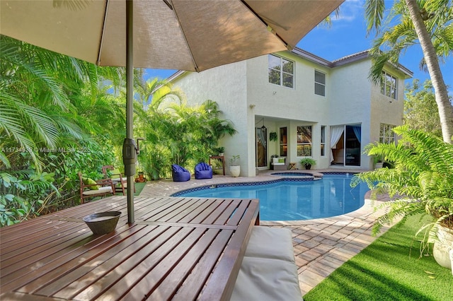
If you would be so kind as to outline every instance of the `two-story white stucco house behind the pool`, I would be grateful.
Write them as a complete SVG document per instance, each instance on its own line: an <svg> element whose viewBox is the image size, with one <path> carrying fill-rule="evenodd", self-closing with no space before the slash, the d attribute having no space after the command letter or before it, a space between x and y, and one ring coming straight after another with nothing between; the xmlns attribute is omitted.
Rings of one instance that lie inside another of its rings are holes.
<svg viewBox="0 0 453 301"><path fill-rule="evenodd" d="M390 129L403 123L404 80L412 76L388 64L385 83L374 85L371 64L367 51L327 61L295 48L169 80L189 104L214 100L234 123L238 134L221 144L227 159L241 156L243 177L269 169L272 155L297 168L311 157L315 169L368 170L373 162L364 146L394 139Z"/></svg>

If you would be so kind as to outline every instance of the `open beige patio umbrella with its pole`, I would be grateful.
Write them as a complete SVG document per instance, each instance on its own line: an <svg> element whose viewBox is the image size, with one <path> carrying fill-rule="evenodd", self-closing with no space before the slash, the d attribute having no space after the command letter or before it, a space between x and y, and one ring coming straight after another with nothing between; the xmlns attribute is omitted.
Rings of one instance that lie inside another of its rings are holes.
<svg viewBox="0 0 453 301"><path fill-rule="evenodd" d="M343 1L1 0L0 34L98 66L126 66L131 141L133 67L203 71L292 49ZM132 189L127 199L133 223Z"/></svg>

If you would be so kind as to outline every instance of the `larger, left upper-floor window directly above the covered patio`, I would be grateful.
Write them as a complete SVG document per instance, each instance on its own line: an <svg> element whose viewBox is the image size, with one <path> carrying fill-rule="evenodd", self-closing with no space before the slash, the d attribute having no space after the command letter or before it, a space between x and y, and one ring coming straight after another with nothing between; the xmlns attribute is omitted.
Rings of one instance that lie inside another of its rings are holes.
<svg viewBox="0 0 453 301"><path fill-rule="evenodd" d="M294 87L294 62L282 57L269 54L269 83L282 85L284 87Z"/></svg>

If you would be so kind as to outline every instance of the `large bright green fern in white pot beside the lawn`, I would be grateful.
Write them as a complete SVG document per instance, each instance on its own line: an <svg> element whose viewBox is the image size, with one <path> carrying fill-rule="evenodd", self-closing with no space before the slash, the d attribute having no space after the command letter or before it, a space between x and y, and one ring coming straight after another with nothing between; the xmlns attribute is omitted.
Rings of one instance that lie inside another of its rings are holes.
<svg viewBox="0 0 453 301"><path fill-rule="evenodd" d="M395 199L380 206L389 208L377 219L374 233L397 216L406 220L415 214L428 214L430 222L416 235L428 231L429 235L423 235L423 246L434 242L435 260L451 268L448 249L453 245L453 145L406 126L398 126L394 132L402 137L398 145L374 143L366 148L368 155L381 156L394 168L359 173L351 186L367 182L373 189L372 196L389 193Z"/></svg>

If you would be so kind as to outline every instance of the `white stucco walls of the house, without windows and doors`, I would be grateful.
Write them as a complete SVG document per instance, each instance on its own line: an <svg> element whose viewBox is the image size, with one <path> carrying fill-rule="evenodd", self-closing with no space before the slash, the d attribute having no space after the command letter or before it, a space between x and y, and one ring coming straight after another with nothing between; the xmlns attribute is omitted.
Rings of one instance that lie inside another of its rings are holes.
<svg viewBox="0 0 453 301"><path fill-rule="evenodd" d="M278 134L280 127L287 127L287 163L298 163L302 157L297 157L297 126L311 125L315 168L327 168L331 164L330 126L360 124L362 153L364 146L379 139L379 124L402 123L403 73L391 72L400 77L398 100L391 100L370 83L369 59L330 68L290 52L277 55L294 61L294 88L269 83L267 55L201 73L185 73L173 81L185 92L189 104L214 100L224 112L224 118L234 123L239 133L223 138L221 144L225 147L227 166L232 155L241 155L241 176L256 174L255 128L263 125L262 119L268 129L268 166L270 156L280 153L278 139L269 141L271 131ZM326 73L325 97L314 94L315 70ZM323 156L321 126L326 126ZM367 155L360 155L360 163L360 169L372 168Z"/></svg>

